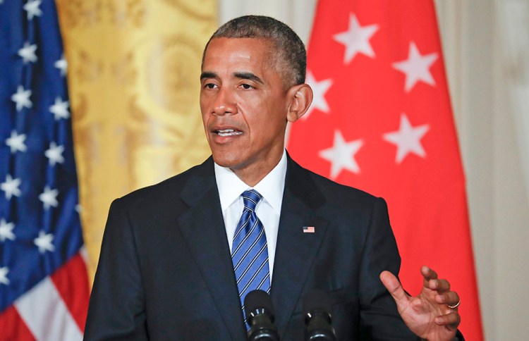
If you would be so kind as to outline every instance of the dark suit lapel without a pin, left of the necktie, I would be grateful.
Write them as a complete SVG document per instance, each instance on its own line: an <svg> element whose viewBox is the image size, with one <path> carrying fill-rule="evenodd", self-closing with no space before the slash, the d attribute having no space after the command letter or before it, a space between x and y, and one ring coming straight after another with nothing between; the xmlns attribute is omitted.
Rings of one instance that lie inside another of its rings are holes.
<svg viewBox="0 0 529 341"><path fill-rule="evenodd" d="M243 315L211 158L191 173L181 197L190 206L178 218L182 235L232 339L243 340Z"/></svg>

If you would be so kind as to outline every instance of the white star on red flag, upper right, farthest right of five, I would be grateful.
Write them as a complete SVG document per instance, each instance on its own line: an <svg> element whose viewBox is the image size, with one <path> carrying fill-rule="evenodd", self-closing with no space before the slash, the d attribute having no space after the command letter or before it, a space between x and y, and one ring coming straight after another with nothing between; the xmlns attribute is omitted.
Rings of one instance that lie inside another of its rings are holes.
<svg viewBox="0 0 529 341"><path fill-rule="evenodd" d="M430 73L430 66L437 61L438 54L425 54L422 56L414 42L410 43L408 59L393 63L393 67L406 75L406 85L404 89L410 92L411 89L422 80L429 85L435 85L434 77Z"/></svg>

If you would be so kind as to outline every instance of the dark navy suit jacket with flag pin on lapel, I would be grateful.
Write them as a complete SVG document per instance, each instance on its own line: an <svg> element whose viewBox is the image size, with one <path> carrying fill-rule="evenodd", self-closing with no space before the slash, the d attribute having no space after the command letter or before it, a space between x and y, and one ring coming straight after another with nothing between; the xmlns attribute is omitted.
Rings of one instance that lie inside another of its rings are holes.
<svg viewBox="0 0 529 341"><path fill-rule="evenodd" d="M339 340L415 340L379 280L399 266L384 200L288 158L271 291L281 340L303 340L312 288L332 297ZM245 331L212 158L112 203L86 340L245 340Z"/></svg>

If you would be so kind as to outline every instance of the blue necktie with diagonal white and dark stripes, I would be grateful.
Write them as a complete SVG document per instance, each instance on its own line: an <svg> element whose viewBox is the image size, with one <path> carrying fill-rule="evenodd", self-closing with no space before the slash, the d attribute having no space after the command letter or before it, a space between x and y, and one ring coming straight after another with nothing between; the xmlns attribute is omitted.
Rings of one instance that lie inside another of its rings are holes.
<svg viewBox="0 0 529 341"><path fill-rule="evenodd" d="M244 298L248 292L257 289L270 292L270 272L265 228L255 214L255 206L262 196L256 190L245 191L241 196L244 210L233 236L231 260L244 315Z"/></svg>

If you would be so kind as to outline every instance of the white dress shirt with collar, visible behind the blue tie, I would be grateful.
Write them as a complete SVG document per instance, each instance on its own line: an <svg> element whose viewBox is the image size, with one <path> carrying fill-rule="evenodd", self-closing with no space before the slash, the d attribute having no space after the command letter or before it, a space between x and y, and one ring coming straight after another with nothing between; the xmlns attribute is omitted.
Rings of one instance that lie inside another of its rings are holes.
<svg viewBox="0 0 529 341"><path fill-rule="evenodd" d="M255 207L255 213L265 228L265 235L267 236L270 283L272 283L272 271L274 269L277 230L279 230L279 215L281 214L281 204L283 203L285 176L286 151L283 151L283 156L277 166L254 187L246 185L231 169L221 167L215 163L215 178L219 188L222 216L230 252L233 244L233 235L244 209L241 194L245 190L253 188L262 195L261 201Z"/></svg>

